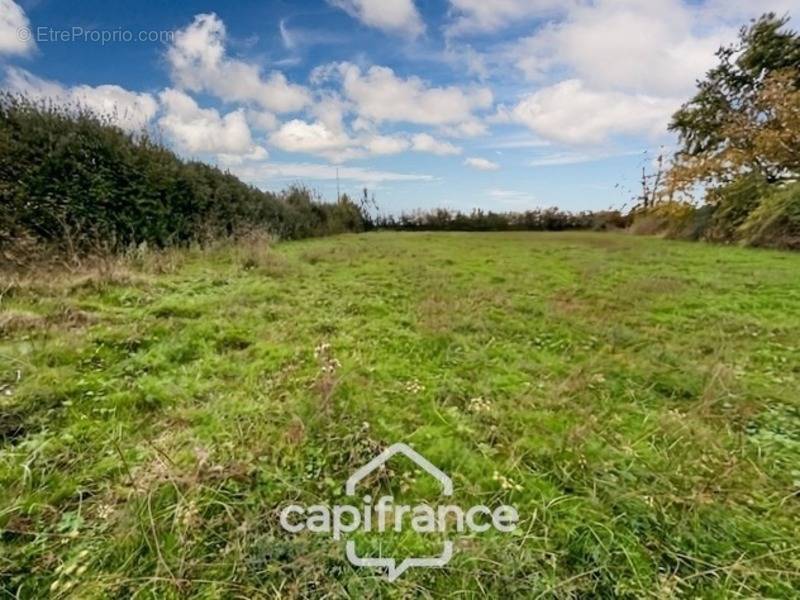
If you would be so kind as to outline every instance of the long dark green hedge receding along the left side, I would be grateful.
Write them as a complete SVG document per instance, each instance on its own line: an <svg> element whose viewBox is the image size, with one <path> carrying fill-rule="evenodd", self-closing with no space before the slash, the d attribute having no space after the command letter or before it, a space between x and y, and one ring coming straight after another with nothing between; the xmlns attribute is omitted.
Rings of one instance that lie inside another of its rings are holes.
<svg viewBox="0 0 800 600"><path fill-rule="evenodd" d="M258 190L184 161L80 106L0 95L0 253L10 261L204 243L254 230L283 239L362 231L347 199Z"/></svg>

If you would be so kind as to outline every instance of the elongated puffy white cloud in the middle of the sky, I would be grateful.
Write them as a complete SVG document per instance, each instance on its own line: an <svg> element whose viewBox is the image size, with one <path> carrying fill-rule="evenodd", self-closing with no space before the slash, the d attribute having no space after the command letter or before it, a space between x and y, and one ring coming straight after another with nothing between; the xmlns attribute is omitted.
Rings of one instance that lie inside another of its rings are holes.
<svg viewBox="0 0 800 600"><path fill-rule="evenodd" d="M398 77L388 67L373 66L366 73L351 63L323 67L317 77L338 73L344 95L359 116L381 123L459 125L476 120L475 111L492 106L492 92L481 87L462 90L455 86L431 87L418 77Z"/></svg>

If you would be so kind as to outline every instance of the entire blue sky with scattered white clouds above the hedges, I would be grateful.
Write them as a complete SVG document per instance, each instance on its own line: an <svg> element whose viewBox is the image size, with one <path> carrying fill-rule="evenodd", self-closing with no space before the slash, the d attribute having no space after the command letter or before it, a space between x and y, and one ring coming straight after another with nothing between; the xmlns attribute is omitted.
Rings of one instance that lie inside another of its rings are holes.
<svg viewBox="0 0 800 600"><path fill-rule="evenodd" d="M624 205L714 50L800 0L0 0L2 87L264 189ZM103 37L107 40L103 41ZM110 39L109 39L110 38ZM140 39L141 38L141 39Z"/></svg>

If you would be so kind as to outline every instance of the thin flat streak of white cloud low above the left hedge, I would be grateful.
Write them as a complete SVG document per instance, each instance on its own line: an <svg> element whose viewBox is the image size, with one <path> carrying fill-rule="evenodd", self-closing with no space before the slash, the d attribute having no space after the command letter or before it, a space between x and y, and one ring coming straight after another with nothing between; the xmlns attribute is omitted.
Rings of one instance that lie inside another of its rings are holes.
<svg viewBox="0 0 800 600"><path fill-rule="evenodd" d="M253 163L235 166L231 171L253 185L265 185L276 179L321 179L333 181L337 178L381 183L384 181L433 181L433 176L418 173L397 173L361 167L335 167L316 163Z"/></svg>

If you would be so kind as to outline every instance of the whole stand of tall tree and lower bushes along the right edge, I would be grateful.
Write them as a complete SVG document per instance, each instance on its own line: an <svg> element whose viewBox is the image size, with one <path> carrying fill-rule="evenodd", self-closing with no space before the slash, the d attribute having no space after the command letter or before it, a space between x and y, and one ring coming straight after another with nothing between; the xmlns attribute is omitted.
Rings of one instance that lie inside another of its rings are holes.
<svg viewBox="0 0 800 600"><path fill-rule="evenodd" d="M800 35L788 23L766 14L719 50L673 116L680 148L664 177L643 180L634 231L800 249Z"/></svg>

